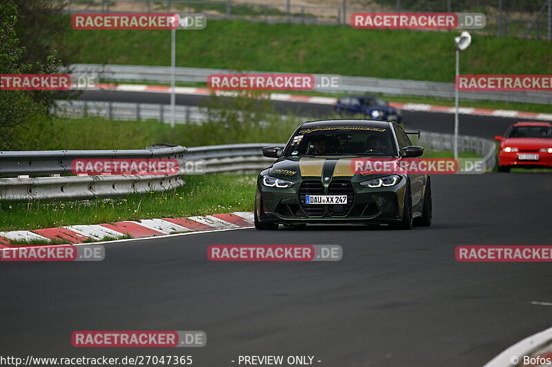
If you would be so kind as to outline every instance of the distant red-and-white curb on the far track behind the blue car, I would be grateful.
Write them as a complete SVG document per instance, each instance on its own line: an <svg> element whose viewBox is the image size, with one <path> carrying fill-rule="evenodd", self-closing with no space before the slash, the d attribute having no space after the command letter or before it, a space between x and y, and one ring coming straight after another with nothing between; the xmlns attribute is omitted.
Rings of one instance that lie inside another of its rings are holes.
<svg viewBox="0 0 552 367"><path fill-rule="evenodd" d="M170 93L170 87L167 87L165 85L99 84L97 85L97 89L114 90L117 92ZM212 92L215 92L215 91L209 90L208 88L175 87L175 94L208 96ZM215 94L217 96L235 96L235 92L228 92L228 91L216 91ZM262 94L262 96L264 96L264 98L270 99L270 101L312 103L315 105L335 105L335 103L337 103L337 98L333 98L333 97L299 96L299 95L285 94L285 93ZM389 104L395 108L404 109L405 111L438 112L441 114L453 114L455 112L454 107L427 105L424 103L390 102ZM533 120L552 121L552 114L540 114L538 112L521 112L521 111L515 111L511 109L486 109L486 108L461 107L458 109L458 112L464 115L530 118Z"/></svg>

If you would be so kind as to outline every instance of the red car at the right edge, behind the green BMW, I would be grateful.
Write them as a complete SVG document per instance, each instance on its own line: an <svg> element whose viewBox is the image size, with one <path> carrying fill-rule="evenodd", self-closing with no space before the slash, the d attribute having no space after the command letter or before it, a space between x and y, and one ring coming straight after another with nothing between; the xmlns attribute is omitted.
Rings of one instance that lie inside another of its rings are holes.
<svg viewBox="0 0 552 367"><path fill-rule="evenodd" d="M550 123L515 123L504 137L497 135L498 171L511 167L552 168L552 125Z"/></svg>

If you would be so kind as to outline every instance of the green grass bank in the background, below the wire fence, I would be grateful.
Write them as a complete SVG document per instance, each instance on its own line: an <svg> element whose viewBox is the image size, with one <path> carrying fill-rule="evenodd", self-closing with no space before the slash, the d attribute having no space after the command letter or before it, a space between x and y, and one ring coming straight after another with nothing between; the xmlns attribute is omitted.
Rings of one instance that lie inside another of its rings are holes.
<svg viewBox="0 0 552 367"><path fill-rule="evenodd" d="M210 20L205 30L177 33L177 66L451 82L454 35ZM72 30L66 42L81 46L74 63L170 63L169 31ZM461 63L462 74L552 74L551 45L475 35Z"/></svg>

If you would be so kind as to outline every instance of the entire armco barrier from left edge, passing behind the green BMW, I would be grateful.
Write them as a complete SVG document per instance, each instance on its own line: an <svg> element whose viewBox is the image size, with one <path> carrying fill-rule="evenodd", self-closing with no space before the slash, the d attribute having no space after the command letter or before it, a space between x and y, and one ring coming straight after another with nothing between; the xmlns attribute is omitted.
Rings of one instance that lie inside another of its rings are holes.
<svg viewBox="0 0 552 367"><path fill-rule="evenodd" d="M453 147L451 134L422 132L417 141L428 150L443 151ZM172 147L145 150L112 151L0 151L0 198L90 199L122 196L127 193L166 191L184 185L184 174L257 174L270 166L274 158L262 156L262 147L284 147L282 143L212 145L207 147ZM474 136L459 136L458 151L474 151L484 156L486 169L495 166L495 143ZM174 158L179 161L175 175L101 175L59 176L70 174L74 158ZM201 163L200 172L186 171ZM55 175L55 177L30 177Z"/></svg>

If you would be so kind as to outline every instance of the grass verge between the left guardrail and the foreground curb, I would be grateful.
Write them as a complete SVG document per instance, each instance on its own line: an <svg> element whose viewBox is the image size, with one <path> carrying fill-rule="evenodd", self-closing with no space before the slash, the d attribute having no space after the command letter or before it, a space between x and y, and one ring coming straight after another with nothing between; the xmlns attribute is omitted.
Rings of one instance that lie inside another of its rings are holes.
<svg viewBox="0 0 552 367"><path fill-rule="evenodd" d="M164 193L79 201L4 200L0 201L0 231L251 211L255 179L251 175L187 176L186 186Z"/></svg>

